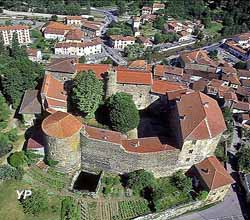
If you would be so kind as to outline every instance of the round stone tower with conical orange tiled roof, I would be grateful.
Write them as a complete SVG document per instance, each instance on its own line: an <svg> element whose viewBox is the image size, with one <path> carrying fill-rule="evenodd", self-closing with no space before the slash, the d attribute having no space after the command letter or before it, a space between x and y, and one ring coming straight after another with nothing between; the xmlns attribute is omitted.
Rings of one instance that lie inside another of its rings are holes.
<svg viewBox="0 0 250 220"><path fill-rule="evenodd" d="M82 123L67 112L55 112L42 122L45 152L58 162L57 170L65 173L80 168L80 130Z"/></svg>

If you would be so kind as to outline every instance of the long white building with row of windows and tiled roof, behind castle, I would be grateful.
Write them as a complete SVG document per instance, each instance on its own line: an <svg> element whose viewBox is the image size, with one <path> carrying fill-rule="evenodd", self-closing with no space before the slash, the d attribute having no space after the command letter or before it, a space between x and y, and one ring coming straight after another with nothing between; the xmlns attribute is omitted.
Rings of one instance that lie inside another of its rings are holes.
<svg viewBox="0 0 250 220"><path fill-rule="evenodd" d="M102 53L102 41L93 39L85 42L59 42L55 45L56 55L90 56Z"/></svg>

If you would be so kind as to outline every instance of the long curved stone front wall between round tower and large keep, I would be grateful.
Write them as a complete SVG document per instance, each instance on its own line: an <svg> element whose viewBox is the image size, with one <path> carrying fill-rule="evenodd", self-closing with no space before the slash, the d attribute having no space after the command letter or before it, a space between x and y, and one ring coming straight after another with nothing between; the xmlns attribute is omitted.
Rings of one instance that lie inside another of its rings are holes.
<svg viewBox="0 0 250 220"><path fill-rule="evenodd" d="M179 150L157 153L126 152L119 144L87 138L81 133L81 166L84 170L126 173L145 169L156 177L168 176L177 169Z"/></svg>

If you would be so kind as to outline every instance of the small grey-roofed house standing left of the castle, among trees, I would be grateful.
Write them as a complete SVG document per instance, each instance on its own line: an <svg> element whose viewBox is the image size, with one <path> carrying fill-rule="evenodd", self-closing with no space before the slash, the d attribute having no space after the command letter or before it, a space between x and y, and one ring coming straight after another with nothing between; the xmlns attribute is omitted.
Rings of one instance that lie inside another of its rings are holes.
<svg viewBox="0 0 250 220"><path fill-rule="evenodd" d="M24 124L32 126L36 119L39 119L42 113L42 107L39 100L38 90L26 90L19 109L19 114L22 115Z"/></svg>

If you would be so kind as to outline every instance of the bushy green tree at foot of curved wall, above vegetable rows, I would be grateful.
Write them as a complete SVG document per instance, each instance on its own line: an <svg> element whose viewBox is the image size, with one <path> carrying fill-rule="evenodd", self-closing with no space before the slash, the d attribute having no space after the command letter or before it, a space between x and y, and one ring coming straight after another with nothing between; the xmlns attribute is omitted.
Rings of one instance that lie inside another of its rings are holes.
<svg viewBox="0 0 250 220"><path fill-rule="evenodd" d="M135 194L139 194L146 187L153 187L156 183L154 175L145 170L136 170L128 174L127 187Z"/></svg>

